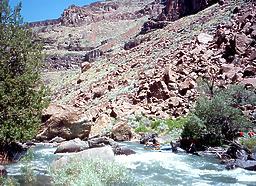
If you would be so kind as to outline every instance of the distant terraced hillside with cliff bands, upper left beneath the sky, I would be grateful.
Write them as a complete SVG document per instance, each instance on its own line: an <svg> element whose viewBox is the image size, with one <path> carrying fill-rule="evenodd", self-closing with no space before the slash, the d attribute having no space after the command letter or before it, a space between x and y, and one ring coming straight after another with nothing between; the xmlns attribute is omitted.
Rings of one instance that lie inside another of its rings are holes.
<svg viewBox="0 0 256 186"><path fill-rule="evenodd" d="M46 69L71 69L123 46L149 17L162 12L160 0L113 0L70 6L57 20L30 23L47 54Z"/></svg>

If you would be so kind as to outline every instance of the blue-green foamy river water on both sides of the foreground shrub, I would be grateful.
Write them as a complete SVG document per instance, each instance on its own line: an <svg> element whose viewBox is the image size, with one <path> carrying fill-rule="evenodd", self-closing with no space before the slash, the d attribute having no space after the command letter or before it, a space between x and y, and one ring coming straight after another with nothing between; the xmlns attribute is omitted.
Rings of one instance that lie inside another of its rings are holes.
<svg viewBox="0 0 256 186"><path fill-rule="evenodd" d="M116 156L116 161L129 169L135 179L143 185L256 185L256 172L243 169L226 170L212 157L198 157L188 154L174 154L170 151L148 151L142 145L123 143L136 151L130 156ZM34 159L30 166L38 175L36 185L51 185L47 170L51 162L58 158L54 147L34 148ZM21 178L23 162L7 167L9 175ZM21 183L21 185L26 185Z"/></svg>

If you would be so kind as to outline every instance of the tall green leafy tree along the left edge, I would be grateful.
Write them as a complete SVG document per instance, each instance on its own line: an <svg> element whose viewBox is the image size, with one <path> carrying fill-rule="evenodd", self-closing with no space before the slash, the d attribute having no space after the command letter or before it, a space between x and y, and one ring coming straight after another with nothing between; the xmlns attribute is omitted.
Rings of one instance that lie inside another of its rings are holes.
<svg viewBox="0 0 256 186"><path fill-rule="evenodd" d="M40 82L42 47L22 23L21 4L11 9L0 1L0 142L34 137L46 106Z"/></svg>

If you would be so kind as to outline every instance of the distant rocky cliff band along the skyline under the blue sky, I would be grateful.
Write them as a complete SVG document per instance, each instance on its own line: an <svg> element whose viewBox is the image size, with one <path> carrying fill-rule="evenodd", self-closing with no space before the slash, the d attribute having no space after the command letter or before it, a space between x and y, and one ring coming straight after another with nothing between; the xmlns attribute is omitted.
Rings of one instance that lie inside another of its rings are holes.
<svg viewBox="0 0 256 186"><path fill-rule="evenodd" d="M60 24L63 26L77 27L95 22L134 20L144 16L158 16L163 9L161 0L115 0L96 2L88 6L71 5L65 9L59 19L34 22L30 25L48 26Z"/></svg>

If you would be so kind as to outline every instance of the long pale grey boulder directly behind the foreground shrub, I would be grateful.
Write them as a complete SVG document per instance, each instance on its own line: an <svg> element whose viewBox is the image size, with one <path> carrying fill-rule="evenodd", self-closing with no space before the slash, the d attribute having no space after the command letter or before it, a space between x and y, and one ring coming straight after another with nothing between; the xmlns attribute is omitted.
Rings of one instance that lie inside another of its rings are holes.
<svg viewBox="0 0 256 186"><path fill-rule="evenodd" d="M102 159L104 161L114 161L114 152L110 146L84 150L69 156L63 156L52 164L53 169L61 169L72 161L84 161L88 159Z"/></svg>

